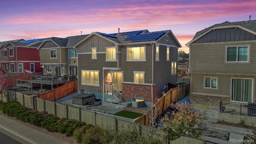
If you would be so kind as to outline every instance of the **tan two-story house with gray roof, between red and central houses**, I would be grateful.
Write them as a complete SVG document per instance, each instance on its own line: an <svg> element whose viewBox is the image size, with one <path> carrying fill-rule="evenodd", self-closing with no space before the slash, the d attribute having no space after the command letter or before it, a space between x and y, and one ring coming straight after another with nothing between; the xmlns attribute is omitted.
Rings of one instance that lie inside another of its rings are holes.
<svg viewBox="0 0 256 144"><path fill-rule="evenodd" d="M77 76L77 50L73 46L86 36L88 35L46 38L38 47L44 74Z"/></svg>

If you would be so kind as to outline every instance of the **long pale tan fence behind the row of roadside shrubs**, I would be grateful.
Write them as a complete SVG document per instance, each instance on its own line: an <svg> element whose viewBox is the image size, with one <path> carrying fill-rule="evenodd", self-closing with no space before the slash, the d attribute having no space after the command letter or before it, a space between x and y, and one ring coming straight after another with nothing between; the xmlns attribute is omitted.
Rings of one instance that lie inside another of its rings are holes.
<svg viewBox="0 0 256 144"><path fill-rule="evenodd" d="M114 128L115 130L127 130L135 128L141 134L157 134L163 139L166 138L166 132L161 129L152 128L150 126L141 125L135 122L128 122L121 120L113 116L106 116L100 113L91 112L88 110L82 110L81 108L68 106L64 104L58 104L56 102L51 102L48 100L43 100L40 98L34 98L35 105L34 108L38 111L47 111L48 114L54 114L59 118L69 118L75 119L80 122L86 122L86 124L100 125L105 128ZM168 141L166 139L166 141ZM205 144L204 140L196 140L194 138L186 138L181 136L180 138L168 141L168 144Z"/></svg>

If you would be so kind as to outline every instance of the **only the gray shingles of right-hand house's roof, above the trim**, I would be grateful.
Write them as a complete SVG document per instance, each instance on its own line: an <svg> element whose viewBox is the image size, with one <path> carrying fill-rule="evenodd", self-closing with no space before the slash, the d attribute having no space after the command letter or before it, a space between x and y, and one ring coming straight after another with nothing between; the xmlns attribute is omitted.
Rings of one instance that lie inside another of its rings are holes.
<svg viewBox="0 0 256 144"><path fill-rule="evenodd" d="M248 30L252 30L253 32L256 32L256 20L250 20L250 22L248 22L248 21L228 22L228 21L226 21L221 24L214 24L213 26L210 26L204 30L200 30L199 32L196 32L193 40L211 28L220 27L220 26L235 26L235 25L239 25L244 28L247 28Z"/></svg>

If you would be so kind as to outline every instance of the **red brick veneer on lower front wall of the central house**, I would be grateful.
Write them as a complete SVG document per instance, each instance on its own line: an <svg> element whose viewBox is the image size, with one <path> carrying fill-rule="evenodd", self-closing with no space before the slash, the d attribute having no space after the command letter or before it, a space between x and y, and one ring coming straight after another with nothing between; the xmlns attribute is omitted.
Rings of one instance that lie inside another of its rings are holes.
<svg viewBox="0 0 256 144"><path fill-rule="evenodd" d="M122 86L122 97L128 100L134 100L134 97L144 98L145 102L151 100L151 86L143 84L126 84ZM156 99L156 85L153 86L153 99Z"/></svg>

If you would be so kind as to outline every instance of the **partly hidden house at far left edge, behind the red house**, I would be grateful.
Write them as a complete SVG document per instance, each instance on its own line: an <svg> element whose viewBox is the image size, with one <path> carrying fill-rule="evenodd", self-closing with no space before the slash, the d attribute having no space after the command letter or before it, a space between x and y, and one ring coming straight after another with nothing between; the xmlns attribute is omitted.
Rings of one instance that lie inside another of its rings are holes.
<svg viewBox="0 0 256 144"><path fill-rule="evenodd" d="M20 42L23 41L24 39L19 39L19 40L10 40L11 42ZM5 42L0 42L0 68L3 68L4 70L7 70L8 66L6 63L7 62L7 50L4 49L4 46L8 43L9 41ZM6 65L5 65L6 64Z"/></svg>

